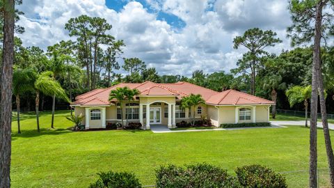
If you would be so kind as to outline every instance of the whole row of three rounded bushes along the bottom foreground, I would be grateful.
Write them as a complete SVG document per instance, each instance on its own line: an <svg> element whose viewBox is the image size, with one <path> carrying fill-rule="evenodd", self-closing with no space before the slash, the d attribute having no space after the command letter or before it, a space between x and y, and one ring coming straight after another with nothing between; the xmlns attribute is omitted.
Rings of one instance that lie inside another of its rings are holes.
<svg viewBox="0 0 334 188"><path fill-rule="evenodd" d="M235 170L237 176L228 174L228 171L211 164L185 165L185 168L170 164L160 166L156 170L156 186L200 188L200 187L225 187L225 188L285 188L285 177L273 170L260 165L242 166ZM100 178L90 185L91 188L136 188L141 183L133 173L121 172L99 173Z"/></svg>

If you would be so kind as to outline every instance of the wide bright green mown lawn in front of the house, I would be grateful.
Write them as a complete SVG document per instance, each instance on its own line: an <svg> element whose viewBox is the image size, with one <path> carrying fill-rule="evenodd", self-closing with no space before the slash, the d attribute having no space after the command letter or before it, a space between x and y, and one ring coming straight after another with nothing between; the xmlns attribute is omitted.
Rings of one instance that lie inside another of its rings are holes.
<svg viewBox="0 0 334 188"><path fill-rule="evenodd" d="M231 174L237 166L264 164L278 172L295 171L284 173L289 187L308 185L309 130L305 127L168 134L71 132L68 115L57 111L56 129L50 130L51 116L42 113L41 133L36 132L33 113L22 115L22 134L16 134L13 122L13 187L88 187L96 173L109 170L132 171L143 185L152 185L159 165L196 162L221 166ZM318 133L318 165L326 169L324 136ZM326 187L328 173L320 172L321 187Z"/></svg>

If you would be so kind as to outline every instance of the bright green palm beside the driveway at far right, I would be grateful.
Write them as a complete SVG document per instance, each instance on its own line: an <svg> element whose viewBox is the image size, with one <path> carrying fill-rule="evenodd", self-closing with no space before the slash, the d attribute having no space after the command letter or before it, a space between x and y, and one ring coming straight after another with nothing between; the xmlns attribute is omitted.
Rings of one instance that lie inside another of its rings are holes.
<svg viewBox="0 0 334 188"><path fill-rule="evenodd" d="M290 107L293 107L294 104L304 102L305 127L308 127L308 100L311 97L311 93L311 86L293 86L285 92L285 95L287 95L287 99L289 100Z"/></svg>

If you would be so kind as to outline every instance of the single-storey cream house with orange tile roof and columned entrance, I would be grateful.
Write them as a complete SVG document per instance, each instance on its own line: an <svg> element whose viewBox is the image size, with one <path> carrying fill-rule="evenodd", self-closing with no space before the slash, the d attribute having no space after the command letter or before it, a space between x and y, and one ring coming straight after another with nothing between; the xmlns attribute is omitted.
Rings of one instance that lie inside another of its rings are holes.
<svg viewBox="0 0 334 188"><path fill-rule="evenodd" d="M125 86L138 89L140 95L134 101L122 104L124 107L121 111L119 102L109 102L109 93ZM207 116L216 127L222 123L269 122L269 107L274 104L270 100L232 89L217 92L185 81L175 84L145 81L95 89L77 96L71 107L74 107L75 114L84 114L82 124L86 129L105 128L106 123L120 122L121 113L123 117L127 113L130 122L140 122L144 129L157 124L172 128L177 122L191 120L193 109L189 111L180 107L182 97L191 93L200 94L205 100L205 104L196 107L196 118Z"/></svg>

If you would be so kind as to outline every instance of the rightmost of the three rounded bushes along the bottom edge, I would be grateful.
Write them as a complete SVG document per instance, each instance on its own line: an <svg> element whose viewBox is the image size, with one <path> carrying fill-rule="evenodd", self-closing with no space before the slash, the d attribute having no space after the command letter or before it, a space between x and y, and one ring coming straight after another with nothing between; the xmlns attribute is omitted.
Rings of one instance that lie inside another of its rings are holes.
<svg viewBox="0 0 334 188"><path fill-rule="evenodd" d="M271 169L264 166L242 166L237 168L235 173L237 173L237 178L243 187L287 187L287 183L285 182L285 177L283 175L275 173Z"/></svg>

